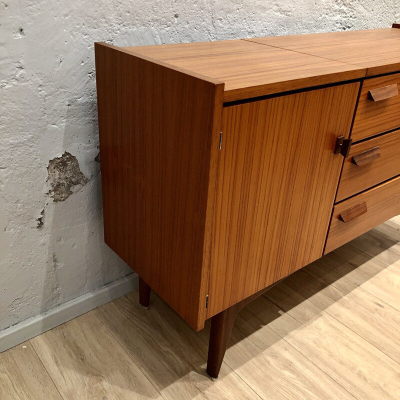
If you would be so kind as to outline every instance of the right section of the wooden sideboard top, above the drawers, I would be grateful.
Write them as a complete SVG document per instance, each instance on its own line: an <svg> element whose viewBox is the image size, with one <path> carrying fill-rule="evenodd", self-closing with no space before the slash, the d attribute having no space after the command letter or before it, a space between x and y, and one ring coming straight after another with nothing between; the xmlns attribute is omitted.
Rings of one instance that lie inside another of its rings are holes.
<svg viewBox="0 0 400 400"><path fill-rule="evenodd" d="M366 76L400 70L400 29L365 29L247 39L279 48L359 65Z"/></svg>

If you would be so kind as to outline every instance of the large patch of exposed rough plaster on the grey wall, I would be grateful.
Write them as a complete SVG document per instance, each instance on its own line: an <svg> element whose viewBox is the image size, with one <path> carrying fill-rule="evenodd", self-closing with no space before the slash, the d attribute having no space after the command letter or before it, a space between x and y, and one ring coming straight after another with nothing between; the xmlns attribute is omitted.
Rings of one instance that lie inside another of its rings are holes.
<svg viewBox="0 0 400 400"><path fill-rule="evenodd" d="M72 194L72 188L77 191L88 182L79 169L76 157L67 151L48 161L47 172L47 181L51 185L48 194L53 201L66 200Z"/></svg>

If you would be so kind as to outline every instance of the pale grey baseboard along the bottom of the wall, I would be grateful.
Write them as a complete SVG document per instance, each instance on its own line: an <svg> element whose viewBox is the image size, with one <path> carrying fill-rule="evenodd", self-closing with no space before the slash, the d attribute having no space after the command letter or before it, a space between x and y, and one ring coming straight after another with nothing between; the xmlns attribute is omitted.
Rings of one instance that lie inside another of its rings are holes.
<svg viewBox="0 0 400 400"><path fill-rule="evenodd" d="M137 275L131 273L121 279L58 305L43 314L18 322L0 331L0 352L69 321L75 316L82 315L93 308L127 294L135 290L137 286Z"/></svg>

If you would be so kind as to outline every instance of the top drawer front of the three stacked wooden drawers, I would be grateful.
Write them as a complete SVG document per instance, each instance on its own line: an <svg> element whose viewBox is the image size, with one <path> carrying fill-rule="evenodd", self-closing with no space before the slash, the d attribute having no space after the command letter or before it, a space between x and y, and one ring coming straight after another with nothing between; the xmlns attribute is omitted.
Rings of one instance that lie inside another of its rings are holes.
<svg viewBox="0 0 400 400"><path fill-rule="evenodd" d="M351 130L353 141L400 127L400 73L365 79Z"/></svg>

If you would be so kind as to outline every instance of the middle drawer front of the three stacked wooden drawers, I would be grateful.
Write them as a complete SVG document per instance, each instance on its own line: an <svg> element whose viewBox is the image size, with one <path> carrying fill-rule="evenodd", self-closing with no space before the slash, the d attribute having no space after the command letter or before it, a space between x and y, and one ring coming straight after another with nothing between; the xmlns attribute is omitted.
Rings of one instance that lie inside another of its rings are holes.
<svg viewBox="0 0 400 400"><path fill-rule="evenodd" d="M336 202L400 174L400 130L351 146L341 171Z"/></svg>

